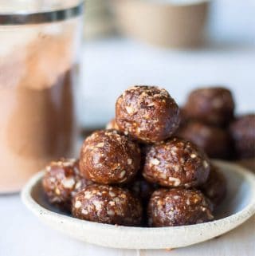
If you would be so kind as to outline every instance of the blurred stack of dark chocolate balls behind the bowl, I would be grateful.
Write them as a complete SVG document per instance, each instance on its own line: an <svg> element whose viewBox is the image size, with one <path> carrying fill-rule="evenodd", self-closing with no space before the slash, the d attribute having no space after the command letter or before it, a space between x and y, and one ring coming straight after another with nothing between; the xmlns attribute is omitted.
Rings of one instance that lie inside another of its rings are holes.
<svg viewBox="0 0 255 256"><path fill-rule="evenodd" d="M255 157L255 114L235 116L229 89L195 89L181 109L181 116L177 135L197 144L207 156L223 160Z"/></svg>

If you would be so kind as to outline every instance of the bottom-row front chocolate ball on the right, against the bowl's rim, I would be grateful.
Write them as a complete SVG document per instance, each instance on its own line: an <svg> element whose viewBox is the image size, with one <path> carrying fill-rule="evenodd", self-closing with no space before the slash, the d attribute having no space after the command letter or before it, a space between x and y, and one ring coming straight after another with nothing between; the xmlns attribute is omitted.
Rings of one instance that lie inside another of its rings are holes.
<svg viewBox="0 0 255 256"><path fill-rule="evenodd" d="M213 206L201 191L184 188L159 189L148 204L149 226L182 226L212 219Z"/></svg>

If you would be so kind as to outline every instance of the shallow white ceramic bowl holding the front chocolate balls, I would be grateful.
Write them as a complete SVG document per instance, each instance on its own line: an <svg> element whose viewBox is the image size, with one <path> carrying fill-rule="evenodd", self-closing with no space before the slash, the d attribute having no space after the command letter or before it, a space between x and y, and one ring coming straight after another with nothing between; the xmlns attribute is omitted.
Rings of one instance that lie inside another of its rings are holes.
<svg viewBox="0 0 255 256"><path fill-rule="evenodd" d="M232 163L214 161L226 175L228 195L216 220L190 226L131 227L92 223L65 215L45 200L44 171L33 176L22 191L26 207L39 219L73 238L100 246L127 249L163 249L190 246L217 237L244 223L255 213L255 175Z"/></svg>

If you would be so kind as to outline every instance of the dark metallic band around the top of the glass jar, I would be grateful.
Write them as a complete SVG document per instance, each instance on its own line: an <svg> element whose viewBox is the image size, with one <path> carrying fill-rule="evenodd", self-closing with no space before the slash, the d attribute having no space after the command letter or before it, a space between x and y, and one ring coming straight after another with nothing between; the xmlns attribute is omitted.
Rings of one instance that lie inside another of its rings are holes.
<svg viewBox="0 0 255 256"><path fill-rule="evenodd" d="M0 12L0 26L13 25L33 25L49 22L61 22L69 18L75 18L84 11L84 1L80 1L76 6L57 9L45 10L38 12L18 11L14 13L1 14Z"/></svg>

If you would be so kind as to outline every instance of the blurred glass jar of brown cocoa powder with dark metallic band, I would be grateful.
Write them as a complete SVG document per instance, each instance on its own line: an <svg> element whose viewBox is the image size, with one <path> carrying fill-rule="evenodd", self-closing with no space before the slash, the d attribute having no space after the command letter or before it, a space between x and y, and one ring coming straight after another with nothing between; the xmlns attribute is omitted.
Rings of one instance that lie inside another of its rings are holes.
<svg viewBox="0 0 255 256"><path fill-rule="evenodd" d="M0 0L0 193L73 156L82 4Z"/></svg>

